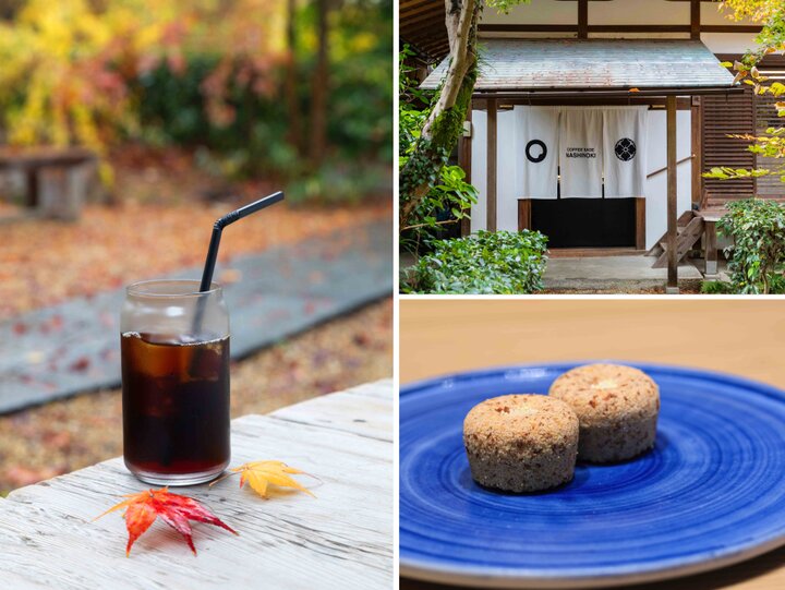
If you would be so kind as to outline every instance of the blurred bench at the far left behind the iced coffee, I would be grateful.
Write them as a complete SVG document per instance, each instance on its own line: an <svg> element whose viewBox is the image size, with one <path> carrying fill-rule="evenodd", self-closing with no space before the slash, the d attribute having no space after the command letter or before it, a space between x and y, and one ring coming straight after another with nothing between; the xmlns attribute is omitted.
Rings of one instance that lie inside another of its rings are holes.
<svg viewBox="0 0 785 590"><path fill-rule="evenodd" d="M96 155L80 147L0 147L0 172L25 176L25 205L56 219L78 218L96 165Z"/></svg>

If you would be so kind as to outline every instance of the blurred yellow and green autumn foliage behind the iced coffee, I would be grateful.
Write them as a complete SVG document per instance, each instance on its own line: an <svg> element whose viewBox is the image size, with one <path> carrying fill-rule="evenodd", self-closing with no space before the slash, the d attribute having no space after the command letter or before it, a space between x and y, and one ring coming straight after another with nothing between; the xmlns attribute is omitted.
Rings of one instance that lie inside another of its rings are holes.
<svg viewBox="0 0 785 590"><path fill-rule="evenodd" d="M361 194L391 161L391 0L0 0L0 143Z"/></svg>

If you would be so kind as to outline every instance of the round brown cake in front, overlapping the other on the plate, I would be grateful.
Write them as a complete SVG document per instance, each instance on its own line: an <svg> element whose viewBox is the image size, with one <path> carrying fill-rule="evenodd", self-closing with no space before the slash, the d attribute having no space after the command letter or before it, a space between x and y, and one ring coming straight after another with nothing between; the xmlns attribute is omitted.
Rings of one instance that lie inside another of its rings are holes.
<svg viewBox="0 0 785 590"><path fill-rule="evenodd" d="M538 492L572 479L578 417L541 395L511 395L474 406L463 421L474 481L507 492Z"/></svg>

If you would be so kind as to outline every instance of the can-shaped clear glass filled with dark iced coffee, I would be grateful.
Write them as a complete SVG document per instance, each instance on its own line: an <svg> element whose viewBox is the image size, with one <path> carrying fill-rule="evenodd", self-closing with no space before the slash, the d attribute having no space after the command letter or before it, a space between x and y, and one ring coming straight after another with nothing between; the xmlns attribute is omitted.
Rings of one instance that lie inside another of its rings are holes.
<svg viewBox="0 0 785 590"><path fill-rule="evenodd" d="M229 465L229 314L221 288L147 280L120 321L123 459L140 480L192 485Z"/></svg>

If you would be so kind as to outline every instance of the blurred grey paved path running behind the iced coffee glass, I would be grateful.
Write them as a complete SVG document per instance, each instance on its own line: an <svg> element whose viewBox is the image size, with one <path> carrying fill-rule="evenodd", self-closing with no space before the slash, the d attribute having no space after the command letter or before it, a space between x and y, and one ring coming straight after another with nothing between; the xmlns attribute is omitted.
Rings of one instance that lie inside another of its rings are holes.
<svg viewBox="0 0 785 590"><path fill-rule="evenodd" d="M389 220L357 225L238 256L231 268L219 265L232 359L388 296L391 230ZM167 276L194 278L201 272ZM0 412L118 386L124 297L114 289L0 320Z"/></svg>

